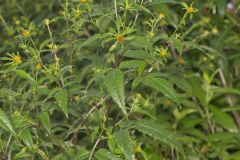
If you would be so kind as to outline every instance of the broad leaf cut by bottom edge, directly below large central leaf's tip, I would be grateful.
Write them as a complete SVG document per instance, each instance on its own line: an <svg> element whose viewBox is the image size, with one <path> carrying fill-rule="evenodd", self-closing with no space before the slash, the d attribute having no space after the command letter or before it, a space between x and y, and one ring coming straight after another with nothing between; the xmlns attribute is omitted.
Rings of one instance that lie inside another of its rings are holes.
<svg viewBox="0 0 240 160"><path fill-rule="evenodd" d="M118 131L114 133L114 138L117 146L120 148L125 158L127 160L134 160L135 159L134 143L128 131L127 130Z"/></svg>

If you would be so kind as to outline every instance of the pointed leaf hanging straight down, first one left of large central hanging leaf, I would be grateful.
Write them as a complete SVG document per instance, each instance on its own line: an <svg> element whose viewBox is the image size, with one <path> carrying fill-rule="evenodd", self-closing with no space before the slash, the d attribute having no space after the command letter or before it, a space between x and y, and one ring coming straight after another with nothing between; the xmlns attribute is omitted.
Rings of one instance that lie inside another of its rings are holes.
<svg viewBox="0 0 240 160"><path fill-rule="evenodd" d="M67 90L61 89L55 94L55 99L57 101L58 106L61 108L61 110L65 113L65 115L68 117L68 93Z"/></svg>

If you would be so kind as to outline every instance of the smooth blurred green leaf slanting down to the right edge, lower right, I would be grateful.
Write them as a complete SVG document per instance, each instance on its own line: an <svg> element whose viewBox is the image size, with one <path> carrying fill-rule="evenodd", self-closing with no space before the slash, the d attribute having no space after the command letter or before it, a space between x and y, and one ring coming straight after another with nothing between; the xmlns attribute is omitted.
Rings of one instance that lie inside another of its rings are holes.
<svg viewBox="0 0 240 160"><path fill-rule="evenodd" d="M231 116L217 107L210 106L210 109L213 113L213 119L217 124L229 132L238 132L237 126Z"/></svg>

